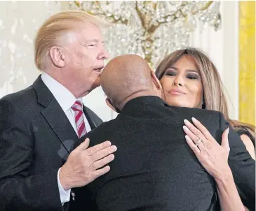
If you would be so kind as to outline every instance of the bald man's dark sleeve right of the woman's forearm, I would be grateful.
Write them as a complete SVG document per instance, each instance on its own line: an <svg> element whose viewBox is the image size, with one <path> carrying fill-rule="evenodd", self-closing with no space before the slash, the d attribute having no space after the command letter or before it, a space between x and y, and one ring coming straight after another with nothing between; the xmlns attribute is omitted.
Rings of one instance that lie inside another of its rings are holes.
<svg viewBox="0 0 256 211"><path fill-rule="evenodd" d="M220 114L220 129L223 133L229 126ZM255 160L245 148L238 134L229 126L229 166L245 207L255 210Z"/></svg>

